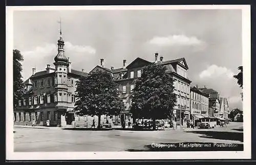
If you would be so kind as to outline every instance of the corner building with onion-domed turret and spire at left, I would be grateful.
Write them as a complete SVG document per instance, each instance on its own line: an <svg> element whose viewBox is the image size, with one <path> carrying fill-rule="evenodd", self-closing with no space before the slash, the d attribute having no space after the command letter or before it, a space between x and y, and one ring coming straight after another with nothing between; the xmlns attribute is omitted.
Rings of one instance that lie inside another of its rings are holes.
<svg viewBox="0 0 256 165"><path fill-rule="evenodd" d="M71 125L75 120L76 81L88 74L73 70L65 56L65 42L58 40L58 54L54 68L47 65L45 71L36 72L25 81L24 98L14 109L14 124L62 126Z"/></svg>

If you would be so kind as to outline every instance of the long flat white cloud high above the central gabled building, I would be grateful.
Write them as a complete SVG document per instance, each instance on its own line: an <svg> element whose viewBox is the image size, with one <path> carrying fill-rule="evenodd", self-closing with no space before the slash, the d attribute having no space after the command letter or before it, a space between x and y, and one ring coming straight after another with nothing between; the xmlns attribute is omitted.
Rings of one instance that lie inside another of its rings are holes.
<svg viewBox="0 0 256 165"><path fill-rule="evenodd" d="M157 46L201 46L204 45L205 42L199 40L195 36L187 37L185 35L172 35L167 37L154 37L148 43Z"/></svg>

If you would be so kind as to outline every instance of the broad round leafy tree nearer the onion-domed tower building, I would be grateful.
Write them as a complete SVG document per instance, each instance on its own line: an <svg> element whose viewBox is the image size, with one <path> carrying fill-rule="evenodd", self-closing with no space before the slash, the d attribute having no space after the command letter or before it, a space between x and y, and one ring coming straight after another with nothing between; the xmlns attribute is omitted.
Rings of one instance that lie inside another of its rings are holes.
<svg viewBox="0 0 256 165"><path fill-rule="evenodd" d="M124 104L119 97L116 84L110 73L97 71L77 81L75 111L79 115L98 116L98 129L101 115L119 115Z"/></svg>

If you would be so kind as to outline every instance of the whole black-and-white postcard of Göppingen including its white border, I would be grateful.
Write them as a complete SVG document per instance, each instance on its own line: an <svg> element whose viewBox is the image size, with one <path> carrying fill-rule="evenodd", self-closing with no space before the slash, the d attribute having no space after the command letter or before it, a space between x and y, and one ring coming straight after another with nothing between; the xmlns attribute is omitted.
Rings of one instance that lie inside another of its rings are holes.
<svg viewBox="0 0 256 165"><path fill-rule="evenodd" d="M7 158L250 158L250 6L6 18Z"/></svg>

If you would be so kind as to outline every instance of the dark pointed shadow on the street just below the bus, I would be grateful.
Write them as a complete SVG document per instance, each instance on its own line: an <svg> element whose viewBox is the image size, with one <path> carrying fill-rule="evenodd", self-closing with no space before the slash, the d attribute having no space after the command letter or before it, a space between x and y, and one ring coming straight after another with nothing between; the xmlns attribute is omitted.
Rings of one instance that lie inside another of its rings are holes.
<svg viewBox="0 0 256 165"><path fill-rule="evenodd" d="M189 132L203 134L199 137L204 137L209 139L220 139L220 140L244 142L243 132L224 132L224 131L189 131Z"/></svg>

